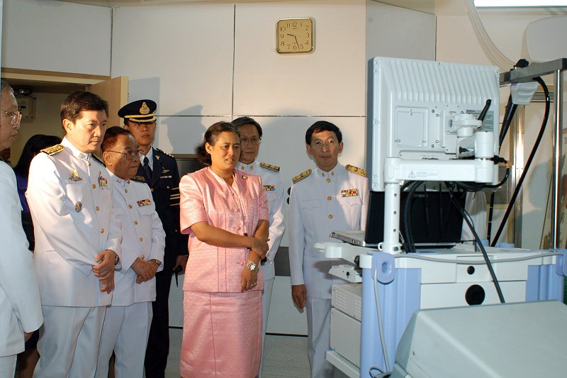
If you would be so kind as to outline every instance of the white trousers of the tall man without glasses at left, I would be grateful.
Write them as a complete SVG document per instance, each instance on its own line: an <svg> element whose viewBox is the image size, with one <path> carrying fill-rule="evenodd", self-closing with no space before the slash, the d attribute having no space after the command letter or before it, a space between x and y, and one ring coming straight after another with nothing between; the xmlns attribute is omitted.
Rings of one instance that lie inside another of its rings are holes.
<svg viewBox="0 0 567 378"><path fill-rule="evenodd" d="M34 378L94 377L106 307L41 306Z"/></svg>

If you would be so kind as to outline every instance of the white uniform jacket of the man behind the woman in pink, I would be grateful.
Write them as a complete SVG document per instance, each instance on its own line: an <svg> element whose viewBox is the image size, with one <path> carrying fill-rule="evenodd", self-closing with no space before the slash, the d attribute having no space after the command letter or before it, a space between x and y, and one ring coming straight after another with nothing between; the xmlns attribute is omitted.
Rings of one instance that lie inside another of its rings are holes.
<svg viewBox="0 0 567 378"><path fill-rule="evenodd" d="M240 169L249 173L257 174L262 178L262 185L266 189L266 197L268 198L268 209L270 212L269 227L269 251L266 255L266 262L262 264L262 272L264 272L264 280L273 279L275 276L274 259L278 252L279 244L283 231L286 230L283 216L283 182L279 167L269 165L257 160L252 164L240 164Z"/></svg>

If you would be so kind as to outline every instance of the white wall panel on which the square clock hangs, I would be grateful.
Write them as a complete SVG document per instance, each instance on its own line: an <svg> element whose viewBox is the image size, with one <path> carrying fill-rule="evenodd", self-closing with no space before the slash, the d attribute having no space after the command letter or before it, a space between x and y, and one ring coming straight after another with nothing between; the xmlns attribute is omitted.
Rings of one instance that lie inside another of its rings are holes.
<svg viewBox="0 0 567 378"><path fill-rule="evenodd" d="M363 116L364 1L237 4L237 114ZM315 50L276 52L279 18L312 17Z"/></svg>

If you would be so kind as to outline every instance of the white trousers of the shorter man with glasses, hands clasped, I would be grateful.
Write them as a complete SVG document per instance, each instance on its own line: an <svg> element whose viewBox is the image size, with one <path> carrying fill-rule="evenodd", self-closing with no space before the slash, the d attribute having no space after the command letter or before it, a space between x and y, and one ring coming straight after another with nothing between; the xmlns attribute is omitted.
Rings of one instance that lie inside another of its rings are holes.
<svg viewBox="0 0 567 378"><path fill-rule="evenodd" d="M102 328L97 378L108 377L108 360L116 355L116 378L142 377L147 338L152 323L152 302L130 306L108 306Z"/></svg>

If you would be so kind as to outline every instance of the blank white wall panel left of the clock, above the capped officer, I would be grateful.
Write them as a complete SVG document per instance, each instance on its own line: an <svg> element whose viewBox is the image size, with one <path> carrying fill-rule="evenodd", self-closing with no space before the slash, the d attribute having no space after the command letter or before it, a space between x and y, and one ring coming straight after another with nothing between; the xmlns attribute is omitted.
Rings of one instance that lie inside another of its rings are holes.
<svg viewBox="0 0 567 378"><path fill-rule="evenodd" d="M117 8L112 76L128 76L128 99L156 99L159 114L230 116L233 15L232 4Z"/></svg>

